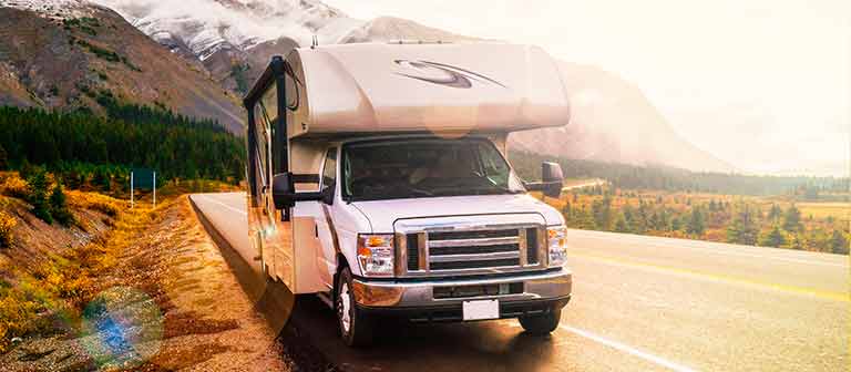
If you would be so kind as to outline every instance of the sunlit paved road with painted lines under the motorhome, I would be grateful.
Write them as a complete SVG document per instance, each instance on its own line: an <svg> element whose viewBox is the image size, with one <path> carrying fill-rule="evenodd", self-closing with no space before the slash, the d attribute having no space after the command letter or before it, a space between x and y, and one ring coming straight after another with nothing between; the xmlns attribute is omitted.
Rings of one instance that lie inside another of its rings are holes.
<svg viewBox="0 0 851 372"><path fill-rule="evenodd" d="M193 199L250 262L243 195ZM388 324L352 350L311 297L291 323L345 371L849 370L847 256L582 230L568 242L574 298L548 339L513 320Z"/></svg>

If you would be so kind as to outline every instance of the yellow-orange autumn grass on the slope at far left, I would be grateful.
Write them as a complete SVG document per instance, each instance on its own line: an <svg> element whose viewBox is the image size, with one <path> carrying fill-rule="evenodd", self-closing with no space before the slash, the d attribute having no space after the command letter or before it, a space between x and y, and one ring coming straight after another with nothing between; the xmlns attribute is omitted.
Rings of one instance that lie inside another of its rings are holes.
<svg viewBox="0 0 851 372"><path fill-rule="evenodd" d="M167 207L172 199L162 204ZM13 280L0 286L0 352L13 337L55 327L80 323L82 308L101 288L98 277L114 267L121 254L137 240L161 208L126 209L126 202L94 193L70 192L69 204L113 216L113 228L101 238L32 262L16 262Z"/></svg>

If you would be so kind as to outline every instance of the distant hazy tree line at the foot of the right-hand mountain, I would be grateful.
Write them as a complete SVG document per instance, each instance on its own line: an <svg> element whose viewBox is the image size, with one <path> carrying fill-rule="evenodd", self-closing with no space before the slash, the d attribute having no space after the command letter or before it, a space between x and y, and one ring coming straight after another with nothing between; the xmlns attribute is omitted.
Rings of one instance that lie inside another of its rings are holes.
<svg viewBox="0 0 851 372"><path fill-rule="evenodd" d="M541 178L541 162L553 161L551 156L523 152L511 152L509 158L525 179ZM848 177L751 176L587 159L558 158L556 162L567 178L603 178L615 188L753 196L792 194L800 200L848 202Z"/></svg>

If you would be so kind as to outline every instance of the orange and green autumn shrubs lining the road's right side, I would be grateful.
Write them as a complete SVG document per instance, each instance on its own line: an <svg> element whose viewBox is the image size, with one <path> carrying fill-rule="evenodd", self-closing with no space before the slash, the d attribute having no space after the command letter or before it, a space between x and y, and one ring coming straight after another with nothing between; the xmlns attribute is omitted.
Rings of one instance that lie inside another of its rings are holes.
<svg viewBox="0 0 851 372"><path fill-rule="evenodd" d="M848 224L835 217L804 218L794 204L766 209L745 198L693 202L687 196L645 198L619 190L572 193L562 211L572 228L842 255L849 252L851 237Z"/></svg>

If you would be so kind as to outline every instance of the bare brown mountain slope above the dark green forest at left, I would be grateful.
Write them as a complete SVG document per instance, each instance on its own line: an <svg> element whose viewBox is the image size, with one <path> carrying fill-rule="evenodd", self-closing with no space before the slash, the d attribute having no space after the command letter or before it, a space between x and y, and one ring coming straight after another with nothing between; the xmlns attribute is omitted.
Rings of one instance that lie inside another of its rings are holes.
<svg viewBox="0 0 851 372"><path fill-rule="evenodd" d="M109 96L243 131L237 95L113 10L78 0L0 0L0 105L103 113L99 99Z"/></svg>

